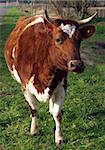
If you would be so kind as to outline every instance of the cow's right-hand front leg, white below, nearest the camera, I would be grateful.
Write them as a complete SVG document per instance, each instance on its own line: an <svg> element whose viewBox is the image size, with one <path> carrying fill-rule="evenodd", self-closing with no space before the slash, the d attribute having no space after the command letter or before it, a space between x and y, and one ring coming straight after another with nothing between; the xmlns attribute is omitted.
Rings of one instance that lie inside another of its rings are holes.
<svg viewBox="0 0 105 150"><path fill-rule="evenodd" d="M54 95L50 99L49 111L53 115L53 118L56 124L55 142L57 145L64 143L64 138L63 138L62 129L61 129L61 120L62 120L61 108L64 103L64 95L65 95L65 90L63 86L60 86L57 88L56 93L54 93Z"/></svg>

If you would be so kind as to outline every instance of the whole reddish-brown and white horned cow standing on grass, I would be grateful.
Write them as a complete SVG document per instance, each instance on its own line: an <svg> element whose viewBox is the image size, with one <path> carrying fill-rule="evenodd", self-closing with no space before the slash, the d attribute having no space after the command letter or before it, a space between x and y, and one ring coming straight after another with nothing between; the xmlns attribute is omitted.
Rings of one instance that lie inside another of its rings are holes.
<svg viewBox="0 0 105 150"><path fill-rule="evenodd" d="M82 73L80 44L95 33L87 25L94 17L79 21L43 16L17 21L5 45L5 59L13 78L20 83L32 115L30 134L38 132L38 102L48 102L55 120L55 142L63 144L61 108L69 72Z"/></svg>

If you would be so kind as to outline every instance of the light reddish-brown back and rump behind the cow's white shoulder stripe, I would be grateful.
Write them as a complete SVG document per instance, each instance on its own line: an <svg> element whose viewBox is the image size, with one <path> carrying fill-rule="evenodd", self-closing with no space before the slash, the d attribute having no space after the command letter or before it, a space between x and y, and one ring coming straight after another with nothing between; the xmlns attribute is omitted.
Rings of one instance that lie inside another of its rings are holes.
<svg viewBox="0 0 105 150"><path fill-rule="evenodd" d="M5 45L5 58L8 65L9 70L12 70L13 64L13 49L17 45L18 40L23 33L25 27L32 22L36 17L22 17L20 18L17 23L16 27L10 33L6 45Z"/></svg>

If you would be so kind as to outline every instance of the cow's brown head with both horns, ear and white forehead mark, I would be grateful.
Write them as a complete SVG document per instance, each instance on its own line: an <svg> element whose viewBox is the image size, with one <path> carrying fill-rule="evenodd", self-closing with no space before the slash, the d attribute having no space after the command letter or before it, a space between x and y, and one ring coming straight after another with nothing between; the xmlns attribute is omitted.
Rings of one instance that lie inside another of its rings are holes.
<svg viewBox="0 0 105 150"><path fill-rule="evenodd" d="M81 21L52 19L47 12L46 20L52 28L52 60L59 69L66 71L82 72L84 63L80 57L80 44L95 32L95 27L87 25L96 14ZM85 26L84 26L85 24Z"/></svg>

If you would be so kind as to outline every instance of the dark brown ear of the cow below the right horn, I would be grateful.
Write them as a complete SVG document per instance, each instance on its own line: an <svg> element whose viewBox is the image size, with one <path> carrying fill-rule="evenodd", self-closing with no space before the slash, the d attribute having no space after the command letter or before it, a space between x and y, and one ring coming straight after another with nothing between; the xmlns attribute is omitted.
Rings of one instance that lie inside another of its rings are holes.
<svg viewBox="0 0 105 150"><path fill-rule="evenodd" d="M80 29L82 39L87 39L95 33L95 27L92 25L85 26Z"/></svg>

